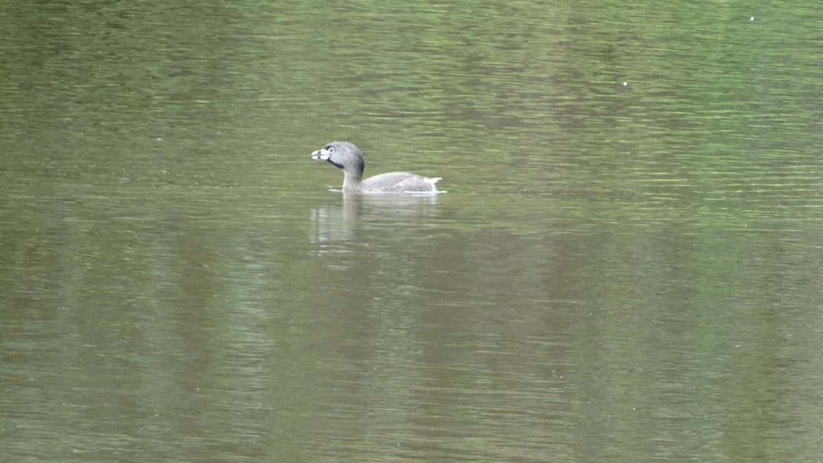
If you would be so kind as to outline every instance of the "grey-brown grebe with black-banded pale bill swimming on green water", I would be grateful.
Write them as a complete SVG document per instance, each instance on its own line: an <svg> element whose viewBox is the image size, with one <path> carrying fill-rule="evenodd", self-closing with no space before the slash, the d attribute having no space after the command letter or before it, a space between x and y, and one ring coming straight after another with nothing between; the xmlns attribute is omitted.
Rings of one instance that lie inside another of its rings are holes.
<svg viewBox="0 0 823 463"><path fill-rule="evenodd" d="M435 184L442 177L424 177L409 172L388 172L363 180L365 161L360 149L348 142L332 142L311 153L317 161L328 161L343 170L343 191L404 193L436 192Z"/></svg>

